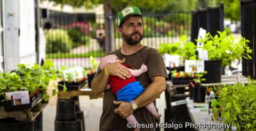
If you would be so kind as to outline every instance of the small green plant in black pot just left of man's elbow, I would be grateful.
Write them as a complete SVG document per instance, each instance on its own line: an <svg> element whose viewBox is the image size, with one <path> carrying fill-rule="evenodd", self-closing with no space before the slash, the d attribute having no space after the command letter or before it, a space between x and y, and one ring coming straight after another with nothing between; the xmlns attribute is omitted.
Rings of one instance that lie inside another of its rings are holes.
<svg viewBox="0 0 256 131"><path fill-rule="evenodd" d="M90 60L91 60L91 63L89 63L89 64L92 65L92 68L91 68L91 69L88 69L88 74L87 74L87 80L88 80L88 86L89 86L89 88L91 88L91 83L92 83L92 80L93 80L93 78L94 78L94 76L95 76L95 71L94 71L94 69L97 69L98 64L99 64L99 62L96 62L96 61L95 61L95 59L94 59L93 56L90 56Z"/></svg>

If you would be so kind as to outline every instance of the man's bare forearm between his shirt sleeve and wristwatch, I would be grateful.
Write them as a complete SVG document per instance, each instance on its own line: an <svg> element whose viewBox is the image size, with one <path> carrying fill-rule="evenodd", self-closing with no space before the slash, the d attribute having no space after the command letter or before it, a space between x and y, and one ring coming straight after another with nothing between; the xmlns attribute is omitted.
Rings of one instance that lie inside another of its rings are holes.
<svg viewBox="0 0 256 131"><path fill-rule="evenodd" d="M138 105L138 108L144 107L150 102L153 102L155 99L165 91L165 77L163 76L154 76L154 81L151 83L148 88L143 91L138 98L134 99L134 103Z"/></svg>

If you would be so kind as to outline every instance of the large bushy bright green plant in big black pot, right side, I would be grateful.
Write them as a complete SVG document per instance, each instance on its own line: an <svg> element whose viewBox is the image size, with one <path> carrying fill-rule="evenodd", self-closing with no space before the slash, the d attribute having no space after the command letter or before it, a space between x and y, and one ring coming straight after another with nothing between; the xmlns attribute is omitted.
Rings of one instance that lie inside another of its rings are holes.
<svg viewBox="0 0 256 131"><path fill-rule="evenodd" d="M252 50L247 45L249 40L241 37L241 40L236 42L237 38L234 38L229 34L227 37L226 31L218 31L218 35L211 36L210 32L206 33L206 37L201 40L196 40L203 44L203 50L207 50L209 60L205 60L205 71L208 73L204 76L206 81L204 83L219 83L221 82L221 66L230 66L231 62L236 59L242 60L242 58L252 59L249 54Z"/></svg>

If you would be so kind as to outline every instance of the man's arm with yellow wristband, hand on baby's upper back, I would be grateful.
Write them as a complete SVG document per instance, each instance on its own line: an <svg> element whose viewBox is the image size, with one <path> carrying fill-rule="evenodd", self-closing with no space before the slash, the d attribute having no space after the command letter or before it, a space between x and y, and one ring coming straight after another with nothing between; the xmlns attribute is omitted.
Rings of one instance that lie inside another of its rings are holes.
<svg viewBox="0 0 256 131"><path fill-rule="evenodd" d="M106 72L109 73L110 75L115 75L118 76L122 79L130 78L131 77L131 72L127 67L122 65L125 62L125 59L122 61L115 62L113 64L107 65L106 66ZM109 74L107 74L105 71L101 71L101 73L97 76L94 77L92 80L92 93L95 96L100 95L103 93L108 85L108 80L109 80ZM126 77L126 78L125 78Z"/></svg>

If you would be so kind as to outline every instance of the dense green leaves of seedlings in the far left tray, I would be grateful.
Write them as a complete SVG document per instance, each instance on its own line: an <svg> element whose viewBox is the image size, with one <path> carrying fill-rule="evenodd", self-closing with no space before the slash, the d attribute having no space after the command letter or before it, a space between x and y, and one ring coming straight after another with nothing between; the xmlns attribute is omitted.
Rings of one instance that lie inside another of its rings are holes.
<svg viewBox="0 0 256 131"><path fill-rule="evenodd" d="M17 65L17 72L20 74L16 72L1 73L0 94L3 95L3 92L28 91L29 96L33 97L41 90L44 93L44 101L48 101L50 95L47 93L47 86L49 86L50 79L57 80L57 75L53 71L52 60L46 59L41 68L38 64L34 64L31 68L28 68L28 66L25 64ZM5 99L8 100L7 97Z"/></svg>

